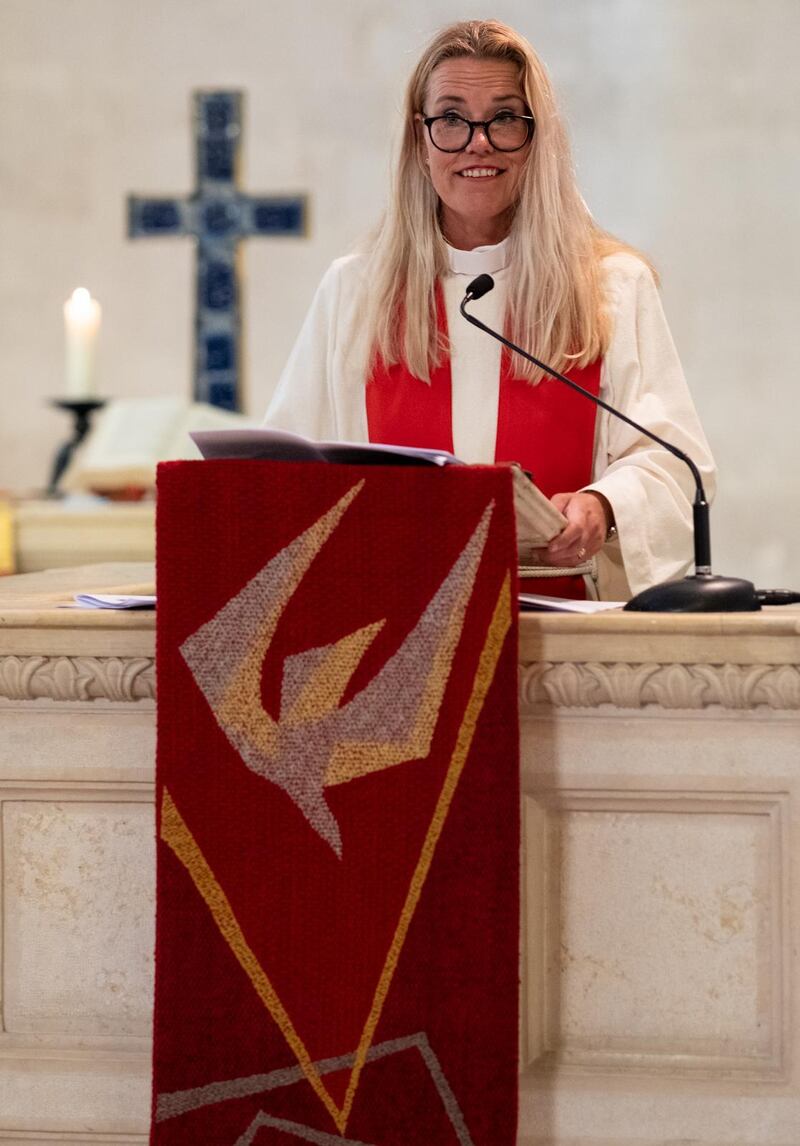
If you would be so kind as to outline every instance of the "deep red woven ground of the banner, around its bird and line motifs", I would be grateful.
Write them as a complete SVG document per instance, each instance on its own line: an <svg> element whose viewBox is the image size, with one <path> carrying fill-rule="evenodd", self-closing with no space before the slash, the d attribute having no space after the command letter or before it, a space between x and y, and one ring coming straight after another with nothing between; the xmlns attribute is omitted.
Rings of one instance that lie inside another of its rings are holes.
<svg viewBox="0 0 800 1146"><path fill-rule="evenodd" d="M495 508L429 754L324 788L342 833L338 858L287 791L245 764L181 645L362 479L267 650L261 704L273 719L288 657L385 619L340 705L360 694L402 645L486 505L494 501ZM159 468L159 808L167 790L315 1062L352 1053L359 1043L452 767L492 611L513 571L510 476L502 469L266 462ZM516 1141L516 609L511 615L372 1039L377 1045L424 1031L473 1141L493 1146ZM304 1077L156 1117L159 1096L297 1066L163 838L157 888L151 1143L227 1146L259 1112L336 1136ZM323 1076L339 1105L348 1078L348 1069ZM297 1137L270 1124L256 1141ZM382 1146L457 1141L417 1049L367 1062L344 1131L348 1139Z"/></svg>

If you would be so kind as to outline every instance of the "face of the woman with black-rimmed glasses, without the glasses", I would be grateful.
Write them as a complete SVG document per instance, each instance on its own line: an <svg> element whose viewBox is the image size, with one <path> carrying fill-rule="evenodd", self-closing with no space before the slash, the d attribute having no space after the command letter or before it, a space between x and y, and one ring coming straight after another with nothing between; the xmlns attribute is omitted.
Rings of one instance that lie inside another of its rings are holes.
<svg viewBox="0 0 800 1146"><path fill-rule="evenodd" d="M469 57L434 68L423 111L424 118L455 111L471 120L488 120L499 111L530 115L516 64ZM496 151L477 127L463 151L439 151L422 119L417 131L423 160L441 202L445 236L464 250L499 243L511 226L530 141L519 151Z"/></svg>

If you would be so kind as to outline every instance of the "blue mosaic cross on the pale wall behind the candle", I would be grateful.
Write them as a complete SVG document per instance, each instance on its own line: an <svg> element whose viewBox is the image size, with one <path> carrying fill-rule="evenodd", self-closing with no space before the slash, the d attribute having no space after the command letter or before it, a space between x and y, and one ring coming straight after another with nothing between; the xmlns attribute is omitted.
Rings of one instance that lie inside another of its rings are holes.
<svg viewBox="0 0 800 1146"><path fill-rule="evenodd" d="M195 400L241 408L241 289L236 249L253 235L304 235L304 196L245 195L237 186L241 92L193 96L197 186L183 198L128 196L128 236L197 240Z"/></svg>

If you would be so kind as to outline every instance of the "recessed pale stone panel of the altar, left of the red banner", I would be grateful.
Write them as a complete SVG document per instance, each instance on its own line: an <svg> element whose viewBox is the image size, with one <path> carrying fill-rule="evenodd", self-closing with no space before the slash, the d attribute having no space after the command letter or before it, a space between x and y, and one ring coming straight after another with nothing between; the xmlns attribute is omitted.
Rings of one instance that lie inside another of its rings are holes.
<svg viewBox="0 0 800 1146"><path fill-rule="evenodd" d="M6 1031L147 1035L152 807L8 800L2 813Z"/></svg>

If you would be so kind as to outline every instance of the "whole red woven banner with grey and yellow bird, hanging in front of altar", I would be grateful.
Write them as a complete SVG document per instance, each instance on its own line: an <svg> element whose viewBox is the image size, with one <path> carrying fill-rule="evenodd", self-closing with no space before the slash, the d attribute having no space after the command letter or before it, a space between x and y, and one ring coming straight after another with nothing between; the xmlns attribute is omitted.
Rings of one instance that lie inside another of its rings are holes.
<svg viewBox="0 0 800 1146"><path fill-rule="evenodd" d="M512 1146L502 468L158 476L151 1143Z"/></svg>

